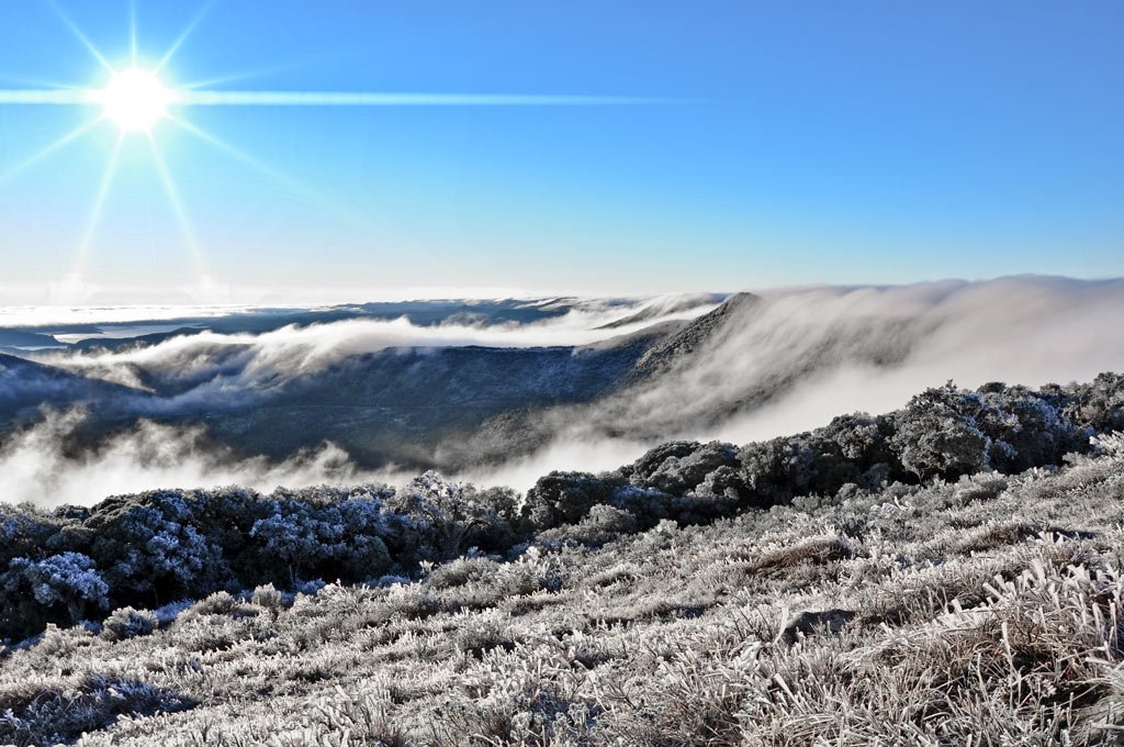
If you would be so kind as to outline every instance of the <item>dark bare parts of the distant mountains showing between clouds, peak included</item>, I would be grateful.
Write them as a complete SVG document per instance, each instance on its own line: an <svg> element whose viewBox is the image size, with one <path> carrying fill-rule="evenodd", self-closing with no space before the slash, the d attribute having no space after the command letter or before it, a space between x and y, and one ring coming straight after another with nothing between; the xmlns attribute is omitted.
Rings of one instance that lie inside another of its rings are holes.
<svg viewBox="0 0 1124 747"><path fill-rule="evenodd" d="M738 408L747 408L782 393L795 377L747 380L736 398L700 407L683 402L664 416L641 416L637 402L646 392L674 387L689 376L704 351L719 346L742 328L761 299L737 294L692 320L667 318L690 309L707 308L713 296L695 296L641 308L598 325L611 331L601 341L582 345L497 348L395 346L348 356L306 376L278 386L230 393L227 381L242 370L245 345L207 350L210 368L191 374L184 366L123 363L135 386L97 378L101 371L61 370L46 362L6 357L8 376L16 384L0 397L0 422L34 421L37 407L80 405L90 418L83 432L90 438L139 418L164 423L206 425L218 444L245 454L283 459L301 449L330 441L365 468L395 465L407 469L459 470L497 464L546 446L575 422L597 436L633 435L641 440L667 438L685 422L714 423ZM613 307L614 302L599 304ZM493 304L366 305L324 313L236 315L192 321L197 327L178 327L127 339L87 339L72 351L94 354L152 348L174 338L220 332L263 334L289 325L332 324L410 310L423 325L463 323L528 324L555 318L574 309L565 300ZM372 310L373 309L373 310ZM379 318L382 318L380 316ZM134 325L134 328L143 325ZM638 331L625 332L636 326ZM878 336L885 330L870 330ZM202 354L202 353L199 353ZM895 354L872 356L885 361ZM60 360L58 353L39 356ZM65 359L61 359L65 360ZM823 351L794 363L801 374L825 364ZM686 389L685 389L686 392ZM631 424L631 426L629 426Z"/></svg>

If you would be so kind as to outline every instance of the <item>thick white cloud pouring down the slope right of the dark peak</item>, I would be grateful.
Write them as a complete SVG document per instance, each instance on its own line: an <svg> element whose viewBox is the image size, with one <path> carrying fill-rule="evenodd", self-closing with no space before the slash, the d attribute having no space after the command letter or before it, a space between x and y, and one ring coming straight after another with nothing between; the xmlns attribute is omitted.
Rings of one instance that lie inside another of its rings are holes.
<svg viewBox="0 0 1124 747"><path fill-rule="evenodd" d="M1041 386L1124 371L1124 280L1016 277L764 291L637 389L552 411L549 447L497 476L544 475L571 454L624 464L670 439L764 440L835 415L898 408L949 379ZM622 435L623 434L623 435ZM480 476L486 479L487 476Z"/></svg>

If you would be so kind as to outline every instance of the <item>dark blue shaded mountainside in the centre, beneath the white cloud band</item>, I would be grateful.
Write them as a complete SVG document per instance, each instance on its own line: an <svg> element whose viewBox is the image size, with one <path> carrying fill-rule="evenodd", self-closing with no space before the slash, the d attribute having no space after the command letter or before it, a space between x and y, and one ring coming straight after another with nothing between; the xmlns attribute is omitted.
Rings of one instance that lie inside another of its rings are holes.
<svg viewBox="0 0 1124 747"><path fill-rule="evenodd" d="M463 468L479 456L482 424L597 402L678 323L577 348L391 349L351 357L246 406L201 413L212 436L284 457L328 440L357 464ZM547 434L543 434L543 439ZM443 444L462 444L455 460ZM525 439L528 453L542 440ZM439 457L438 452L444 456ZM438 461L439 459L444 461Z"/></svg>

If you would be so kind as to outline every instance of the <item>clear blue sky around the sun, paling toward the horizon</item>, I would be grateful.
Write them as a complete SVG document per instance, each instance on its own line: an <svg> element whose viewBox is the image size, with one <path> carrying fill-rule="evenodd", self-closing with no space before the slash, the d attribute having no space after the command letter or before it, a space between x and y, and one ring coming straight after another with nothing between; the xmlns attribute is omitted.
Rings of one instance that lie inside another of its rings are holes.
<svg viewBox="0 0 1124 747"><path fill-rule="evenodd" d="M60 8L128 65L128 0ZM137 0L140 66L201 8ZM106 84L48 3L4 16L0 87ZM672 101L185 107L246 158L157 123L182 215L134 134L96 222L116 126L3 176L98 111L0 106L0 303L1120 276L1122 34L1108 1L216 0L164 83Z"/></svg>

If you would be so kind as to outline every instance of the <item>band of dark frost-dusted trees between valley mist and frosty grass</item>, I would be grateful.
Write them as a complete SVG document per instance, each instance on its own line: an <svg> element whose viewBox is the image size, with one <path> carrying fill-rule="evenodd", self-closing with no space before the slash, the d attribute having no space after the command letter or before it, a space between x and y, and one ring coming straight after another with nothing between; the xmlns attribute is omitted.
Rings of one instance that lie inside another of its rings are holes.
<svg viewBox="0 0 1124 747"><path fill-rule="evenodd" d="M0 505L0 639L216 591L413 576L424 561L604 543L660 521L705 523L800 501L1059 465L1124 431L1124 376L1028 389L952 384L887 415L744 447L671 442L601 475L551 472L527 495L432 472L395 489L237 487L116 496L91 508Z"/></svg>

